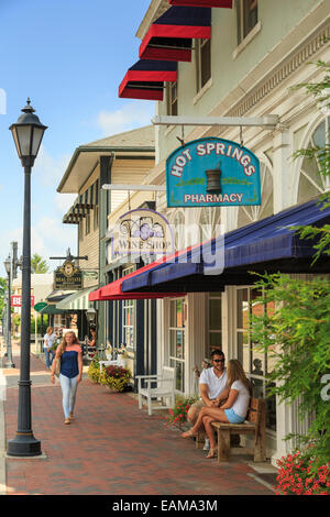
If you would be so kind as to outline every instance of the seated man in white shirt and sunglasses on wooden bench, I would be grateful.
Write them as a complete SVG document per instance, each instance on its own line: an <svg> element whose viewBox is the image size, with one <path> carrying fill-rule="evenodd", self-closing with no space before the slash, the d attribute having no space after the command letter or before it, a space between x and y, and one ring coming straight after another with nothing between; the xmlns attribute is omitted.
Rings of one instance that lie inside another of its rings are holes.
<svg viewBox="0 0 330 517"><path fill-rule="evenodd" d="M211 353L211 367L204 370L199 377L201 400L193 404L187 414L187 418L193 425L196 424L202 407L219 407L229 394L224 354L221 350L213 350Z"/></svg>

